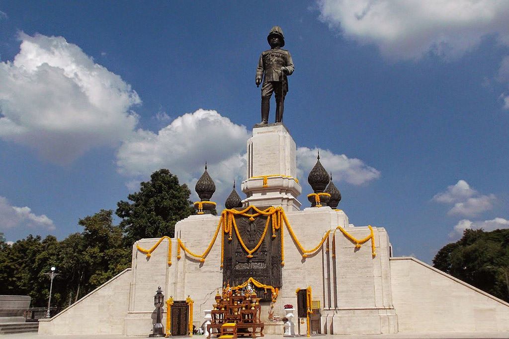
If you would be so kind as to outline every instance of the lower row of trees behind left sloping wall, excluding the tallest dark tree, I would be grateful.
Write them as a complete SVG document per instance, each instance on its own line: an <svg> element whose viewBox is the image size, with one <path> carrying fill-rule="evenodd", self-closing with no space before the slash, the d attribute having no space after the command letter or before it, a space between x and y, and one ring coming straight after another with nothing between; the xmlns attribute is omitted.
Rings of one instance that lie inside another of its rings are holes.
<svg viewBox="0 0 509 339"><path fill-rule="evenodd" d="M124 246L112 214L101 210L80 219L83 232L62 241L29 235L0 244L0 294L30 295L33 307L45 307L50 280L44 273L55 266L51 305L62 309L129 267L131 247Z"/></svg>

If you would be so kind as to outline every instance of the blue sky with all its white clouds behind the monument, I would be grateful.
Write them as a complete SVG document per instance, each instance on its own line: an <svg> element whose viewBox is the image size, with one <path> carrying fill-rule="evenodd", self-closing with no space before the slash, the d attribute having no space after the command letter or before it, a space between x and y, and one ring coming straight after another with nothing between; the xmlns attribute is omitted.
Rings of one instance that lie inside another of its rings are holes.
<svg viewBox="0 0 509 339"><path fill-rule="evenodd" d="M7 240L80 232L159 168L193 191L207 161L223 204L245 179L273 25L295 63L303 206L320 149L338 208L385 227L396 256L431 262L465 228L509 227L509 2L256 4L0 2Z"/></svg>

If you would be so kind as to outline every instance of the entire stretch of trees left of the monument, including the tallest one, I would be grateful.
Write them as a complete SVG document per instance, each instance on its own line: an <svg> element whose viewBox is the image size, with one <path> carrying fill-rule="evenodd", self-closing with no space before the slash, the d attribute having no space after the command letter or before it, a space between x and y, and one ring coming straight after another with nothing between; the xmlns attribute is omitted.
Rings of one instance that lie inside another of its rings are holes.
<svg viewBox="0 0 509 339"><path fill-rule="evenodd" d="M78 221L82 232L62 241L52 235L29 235L12 245L0 241L0 294L30 295L32 307L45 307L45 273L55 266L51 305L63 309L130 267L134 241L173 237L175 224L193 211L189 195L185 184L161 169L128 196L131 202L118 202L120 225L113 224L112 210L101 209Z"/></svg>

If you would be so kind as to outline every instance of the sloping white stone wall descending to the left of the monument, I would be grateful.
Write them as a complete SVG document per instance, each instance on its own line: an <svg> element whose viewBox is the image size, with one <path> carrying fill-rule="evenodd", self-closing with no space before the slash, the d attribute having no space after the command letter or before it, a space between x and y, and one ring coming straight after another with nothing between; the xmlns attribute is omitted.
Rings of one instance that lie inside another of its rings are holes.
<svg viewBox="0 0 509 339"><path fill-rule="evenodd" d="M128 268L53 318L40 319L39 334L123 334L132 273Z"/></svg>

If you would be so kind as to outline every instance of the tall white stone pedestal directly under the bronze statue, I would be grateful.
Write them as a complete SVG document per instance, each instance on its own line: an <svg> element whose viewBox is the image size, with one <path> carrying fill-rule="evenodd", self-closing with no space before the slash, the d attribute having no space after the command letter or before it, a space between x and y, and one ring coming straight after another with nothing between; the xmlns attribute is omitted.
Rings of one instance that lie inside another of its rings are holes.
<svg viewBox="0 0 509 339"><path fill-rule="evenodd" d="M244 204L299 210L302 188L297 180L296 146L284 125L253 129L247 141L247 179Z"/></svg>

